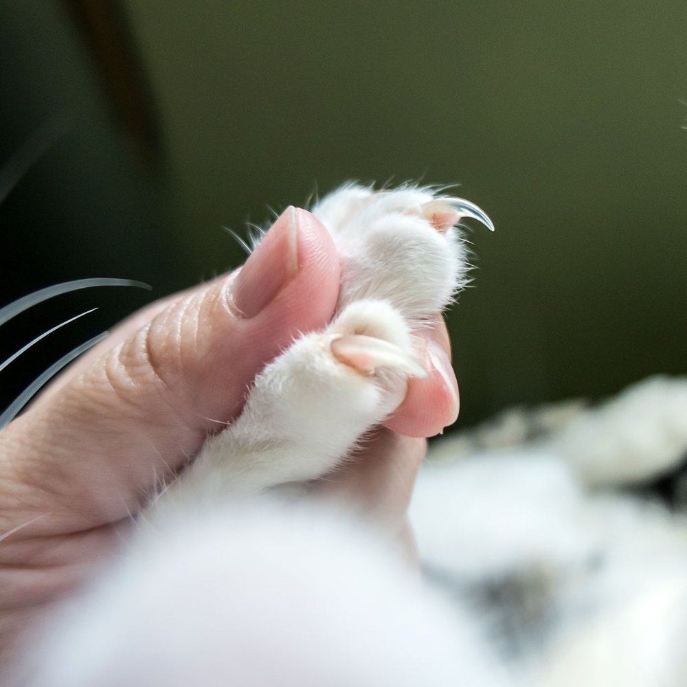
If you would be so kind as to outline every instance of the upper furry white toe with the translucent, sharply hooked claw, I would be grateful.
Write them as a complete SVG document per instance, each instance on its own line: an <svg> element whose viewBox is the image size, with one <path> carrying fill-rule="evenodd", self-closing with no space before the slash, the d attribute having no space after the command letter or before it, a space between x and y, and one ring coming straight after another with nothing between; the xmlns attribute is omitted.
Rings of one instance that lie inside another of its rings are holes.
<svg viewBox="0 0 687 687"><path fill-rule="evenodd" d="M374 192L347 185L313 214L339 252L339 307L380 298L410 320L442 311L467 282L467 251L455 225L473 218L494 228L477 205L410 186Z"/></svg>

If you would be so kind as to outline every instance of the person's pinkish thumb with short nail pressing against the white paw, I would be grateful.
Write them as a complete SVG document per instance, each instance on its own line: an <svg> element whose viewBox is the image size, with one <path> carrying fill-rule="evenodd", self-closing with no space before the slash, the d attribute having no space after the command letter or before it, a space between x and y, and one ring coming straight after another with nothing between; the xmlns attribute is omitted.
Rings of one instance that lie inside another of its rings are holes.
<svg viewBox="0 0 687 687"><path fill-rule="evenodd" d="M5 427L0 477L6 484L1 466L11 466L19 517L40 504L62 533L137 510L160 477L240 412L265 363L297 333L326 325L338 291L330 235L289 207L240 270L115 338Z"/></svg>

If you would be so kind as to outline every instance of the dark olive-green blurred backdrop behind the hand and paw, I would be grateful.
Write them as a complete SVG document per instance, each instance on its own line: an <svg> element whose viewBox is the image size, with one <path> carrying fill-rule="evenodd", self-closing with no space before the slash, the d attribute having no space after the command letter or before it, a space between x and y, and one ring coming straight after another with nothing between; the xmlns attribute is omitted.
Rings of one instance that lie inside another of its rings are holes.
<svg viewBox="0 0 687 687"><path fill-rule="evenodd" d="M245 256L223 231L347 179L461 183L460 425L687 372L687 4L0 2L0 405L148 300ZM21 164L19 164L21 166Z"/></svg>

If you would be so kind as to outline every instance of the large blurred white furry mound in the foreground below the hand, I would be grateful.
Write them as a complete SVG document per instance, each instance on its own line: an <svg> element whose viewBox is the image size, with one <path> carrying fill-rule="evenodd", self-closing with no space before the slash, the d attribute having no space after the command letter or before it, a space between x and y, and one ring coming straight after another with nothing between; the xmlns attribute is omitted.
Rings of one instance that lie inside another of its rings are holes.
<svg viewBox="0 0 687 687"><path fill-rule="evenodd" d="M172 525L55 618L25 684L502 684L476 627L383 539L323 506L245 504Z"/></svg>

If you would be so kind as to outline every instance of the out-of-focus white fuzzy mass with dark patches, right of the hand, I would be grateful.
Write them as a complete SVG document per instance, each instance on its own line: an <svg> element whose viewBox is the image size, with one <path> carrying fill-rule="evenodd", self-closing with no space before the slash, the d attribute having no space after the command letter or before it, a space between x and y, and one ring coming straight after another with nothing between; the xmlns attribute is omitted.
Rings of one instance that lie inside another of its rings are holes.
<svg viewBox="0 0 687 687"><path fill-rule="evenodd" d="M523 684L685 684L687 520L616 489L685 458L687 379L661 377L441 440L410 509L425 570Z"/></svg>

